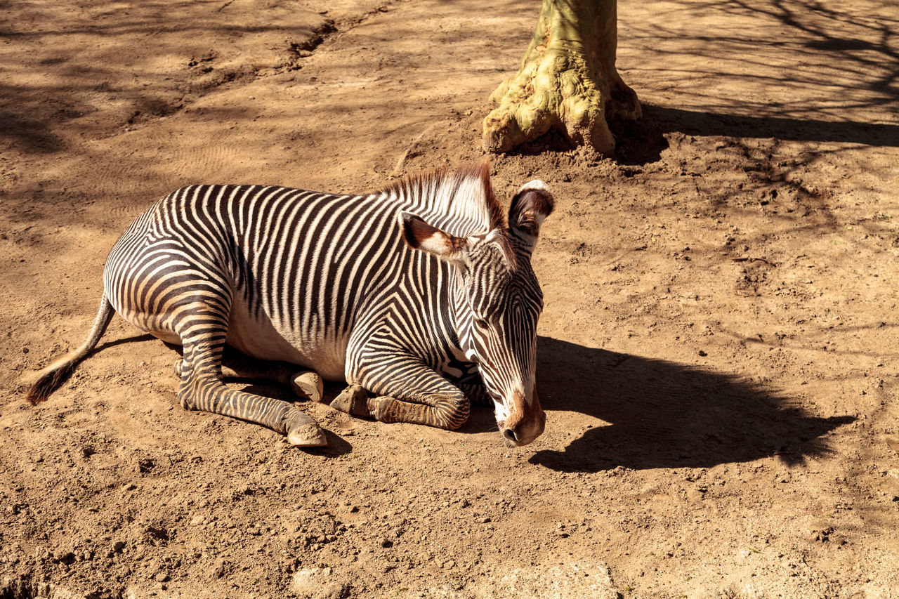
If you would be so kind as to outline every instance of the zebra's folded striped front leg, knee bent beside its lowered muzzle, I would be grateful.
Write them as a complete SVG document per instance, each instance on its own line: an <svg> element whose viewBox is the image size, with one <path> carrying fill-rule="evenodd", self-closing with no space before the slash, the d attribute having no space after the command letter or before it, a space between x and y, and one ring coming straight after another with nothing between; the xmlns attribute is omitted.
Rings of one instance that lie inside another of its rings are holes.
<svg viewBox="0 0 899 599"><path fill-rule="evenodd" d="M353 379L378 397L365 399L364 409L358 396L348 409L338 407L349 414L448 430L458 429L468 419L470 407L465 393L412 356L369 362L368 366L362 362Z"/></svg>

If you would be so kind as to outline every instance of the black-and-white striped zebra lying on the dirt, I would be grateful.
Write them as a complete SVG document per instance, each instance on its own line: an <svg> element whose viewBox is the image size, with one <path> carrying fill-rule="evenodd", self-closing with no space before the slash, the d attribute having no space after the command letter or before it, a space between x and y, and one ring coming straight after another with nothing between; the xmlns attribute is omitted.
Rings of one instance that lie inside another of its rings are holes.
<svg viewBox="0 0 899 599"><path fill-rule="evenodd" d="M508 224L486 161L363 195L198 184L170 193L112 247L84 344L35 375L46 399L121 317L170 344L188 410L326 444L293 404L229 389L225 377L290 383L320 400L321 378L361 394L353 416L456 430L471 401L494 404L507 446L543 433L535 369L543 296L530 258L553 210L525 183ZM226 344L241 356L223 365ZM308 369L308 370L301 370ZM343 394L342 394L343 395Z"/></svg>

